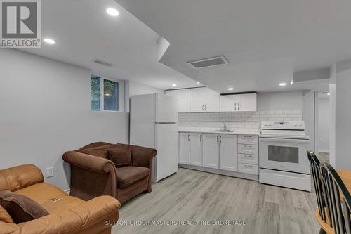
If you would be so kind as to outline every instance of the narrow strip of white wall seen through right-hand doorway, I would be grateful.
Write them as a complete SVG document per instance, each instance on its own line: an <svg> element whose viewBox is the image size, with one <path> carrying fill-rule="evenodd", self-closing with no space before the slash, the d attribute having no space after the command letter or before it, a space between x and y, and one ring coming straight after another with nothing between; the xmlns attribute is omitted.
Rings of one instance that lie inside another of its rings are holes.
<svg viewBox="0 0 351 234"><path fill-rule="evenodd" d="M329 98L318 98L318 152L329 152L330 109Z"/></svg>

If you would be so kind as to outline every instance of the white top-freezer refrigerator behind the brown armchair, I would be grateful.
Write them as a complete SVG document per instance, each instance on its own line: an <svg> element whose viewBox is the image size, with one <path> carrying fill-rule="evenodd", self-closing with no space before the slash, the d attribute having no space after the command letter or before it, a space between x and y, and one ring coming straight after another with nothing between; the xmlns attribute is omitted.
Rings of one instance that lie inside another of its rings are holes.
<svg viewBox="0 0 351 234"><path fill-rule="evenodd" d="M155 148L152 182L178 170L178 101L152 93L131 96L130 143Z"/></svg>

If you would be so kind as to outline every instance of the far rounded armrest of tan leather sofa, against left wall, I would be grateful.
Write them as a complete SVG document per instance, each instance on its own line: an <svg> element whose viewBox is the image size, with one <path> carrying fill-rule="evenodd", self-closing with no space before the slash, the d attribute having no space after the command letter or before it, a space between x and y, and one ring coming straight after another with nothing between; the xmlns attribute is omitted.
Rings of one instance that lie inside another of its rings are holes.
<svg viewBox="0 0 351 234"><path fill-rule="evenodd" d="M17 191L43 181L41 170L32 164L0 170L0 190Z"/></svg>

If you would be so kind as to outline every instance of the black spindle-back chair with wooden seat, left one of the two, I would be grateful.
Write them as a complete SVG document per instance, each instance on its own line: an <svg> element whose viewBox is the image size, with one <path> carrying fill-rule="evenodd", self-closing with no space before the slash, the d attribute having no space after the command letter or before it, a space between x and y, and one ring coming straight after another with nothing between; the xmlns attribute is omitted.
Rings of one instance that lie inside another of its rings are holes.
<svg viewBox="0 0 351 234"><path fill-rule="evenodd" d="M329 217L331 216L329 207L326 206L326 189L325 183L322 180L321 162L312 151L307 151L307 157L310 161L311 174L314 182L314 190L316 191L317 205L315 215L321 230L319 233L334 233Z"/></svg>

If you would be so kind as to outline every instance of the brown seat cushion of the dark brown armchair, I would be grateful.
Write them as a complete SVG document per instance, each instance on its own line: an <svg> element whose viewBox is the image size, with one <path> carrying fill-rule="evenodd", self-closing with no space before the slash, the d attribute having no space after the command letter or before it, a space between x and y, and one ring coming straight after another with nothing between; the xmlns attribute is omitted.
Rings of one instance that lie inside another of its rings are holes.
<svg viewBox="0 0 351 234"><path fill-rule="evenodd" d="M117 168L117 186L125 188L142 178L149 176L150 169L146 167L119 167Z"/></svg>

